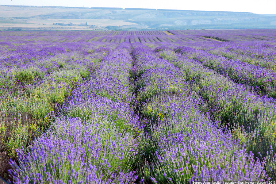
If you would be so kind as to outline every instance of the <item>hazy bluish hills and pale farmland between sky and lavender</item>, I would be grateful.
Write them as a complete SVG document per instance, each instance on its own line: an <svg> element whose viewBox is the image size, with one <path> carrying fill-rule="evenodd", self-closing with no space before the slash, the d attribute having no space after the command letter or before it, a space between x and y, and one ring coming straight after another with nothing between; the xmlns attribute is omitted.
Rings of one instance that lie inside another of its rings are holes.
<svg viewBox="0 0 276 184"><path fill-rule="evenodd" d="M0 30L276 29L275 22L247 12L0 5Z"/></svg>

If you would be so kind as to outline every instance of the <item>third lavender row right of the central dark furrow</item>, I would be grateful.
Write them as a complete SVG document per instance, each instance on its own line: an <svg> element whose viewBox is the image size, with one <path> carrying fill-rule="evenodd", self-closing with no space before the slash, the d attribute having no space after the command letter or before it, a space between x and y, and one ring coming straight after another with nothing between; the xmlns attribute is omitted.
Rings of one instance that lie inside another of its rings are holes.
<svg viewBox="0 0 276 184"><path fill-rule="evenodd" d="M182 54L200 61L205 66L213 68L218 73L231 77L238 83L247 84L266 95L276 97L276 73L262 66L251 65L240 60L227 59L196 49L177 48ZM187 53L187 50L190 52Z"/></svg>

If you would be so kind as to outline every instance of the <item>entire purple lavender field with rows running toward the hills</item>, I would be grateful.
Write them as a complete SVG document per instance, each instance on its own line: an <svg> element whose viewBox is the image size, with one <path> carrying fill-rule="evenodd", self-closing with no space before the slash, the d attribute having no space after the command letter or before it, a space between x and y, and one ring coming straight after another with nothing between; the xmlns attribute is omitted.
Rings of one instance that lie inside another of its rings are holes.
<svg viewBox="0 0 276 184"><path fill-rule="evenodd" d="M276 30L0 33L0 176L276 180Z"/></svg>

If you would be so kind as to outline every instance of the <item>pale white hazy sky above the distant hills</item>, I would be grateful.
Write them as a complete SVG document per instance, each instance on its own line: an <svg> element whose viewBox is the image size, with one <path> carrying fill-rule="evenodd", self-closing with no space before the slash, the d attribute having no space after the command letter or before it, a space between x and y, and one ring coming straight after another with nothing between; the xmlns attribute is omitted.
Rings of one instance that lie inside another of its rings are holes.
<svg viewBox="0 0 276 184"><path fill-rule="evenodd" d="M0 4L243 11L276 14L276 0L1 0Z"/></svg>

